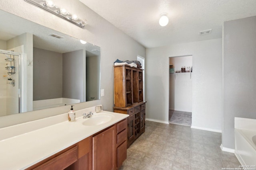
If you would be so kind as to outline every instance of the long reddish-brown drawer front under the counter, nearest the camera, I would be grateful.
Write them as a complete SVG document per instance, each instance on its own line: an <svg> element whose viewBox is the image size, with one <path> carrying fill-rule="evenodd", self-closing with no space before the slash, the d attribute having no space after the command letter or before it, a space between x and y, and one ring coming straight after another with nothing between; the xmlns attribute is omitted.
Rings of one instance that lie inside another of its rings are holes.
<svg viewBox="0 0 256 170"><path fill-rule="evenodd" d="M51 160L45 162L44 164L34 168L34 170L54 170L54 169L65 169L74 162L78 160L77 149L78 147L75 146L72 149L67 150L66 152L52 158Z"/></svg>

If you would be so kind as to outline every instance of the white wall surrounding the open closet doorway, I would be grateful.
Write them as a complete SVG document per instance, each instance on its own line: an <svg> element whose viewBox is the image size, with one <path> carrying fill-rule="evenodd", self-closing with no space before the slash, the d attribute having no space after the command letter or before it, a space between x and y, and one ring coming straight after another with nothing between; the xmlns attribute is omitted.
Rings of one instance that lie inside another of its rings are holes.
<svg viewBox="0 0 256 170"><path fill-rule="evenodd" d="M146 118L168 122L169 57L193 56L192 126L222 129L222 39L146 49Z"/></svg>

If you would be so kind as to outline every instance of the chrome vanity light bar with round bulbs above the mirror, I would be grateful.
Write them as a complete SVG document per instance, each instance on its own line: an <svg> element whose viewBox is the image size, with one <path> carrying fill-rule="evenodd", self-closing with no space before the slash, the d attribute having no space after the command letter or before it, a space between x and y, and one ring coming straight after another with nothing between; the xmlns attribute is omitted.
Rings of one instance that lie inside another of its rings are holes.
<svg viewBox="0 0 256 170"><path fill-rule="evenodd" d="M48 1L48 0L25 0L25 1L38 7L38 8L41 8L42 10L50 12L51 14L54 14L66 21L69 21L69 22L77 25L78 27L84 28L84 26L87 25L86 21L79 19L76 15L72 15L72 14L68 13L63 8L58 8L57 6L55 6L53 4L52 1ZM50 2L50 3L48 3L48 2ZM47 5L47 4L50 4L50 5Z"/></svg>

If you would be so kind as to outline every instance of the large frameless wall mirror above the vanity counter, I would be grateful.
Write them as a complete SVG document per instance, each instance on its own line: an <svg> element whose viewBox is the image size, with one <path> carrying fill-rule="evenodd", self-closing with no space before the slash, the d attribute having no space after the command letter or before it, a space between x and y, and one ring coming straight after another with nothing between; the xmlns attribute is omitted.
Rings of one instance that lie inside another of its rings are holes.
<svg viewBox="0 0 256 170"><path fill-rule="evenodd" d="M0 10L0 74L0 116L98 100L100 47Z"/></svg>

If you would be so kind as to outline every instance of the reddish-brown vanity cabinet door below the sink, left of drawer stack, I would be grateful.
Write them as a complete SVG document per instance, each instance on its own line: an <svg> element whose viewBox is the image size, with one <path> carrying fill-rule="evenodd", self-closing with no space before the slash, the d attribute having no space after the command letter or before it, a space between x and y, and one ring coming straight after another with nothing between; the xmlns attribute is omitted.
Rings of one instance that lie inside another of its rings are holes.
<svg viewBox="0 0 256 170"><path fill-rule="evenodd" d="M113 170L115 158L114 126L92 137L92 169Z"/></svg>

